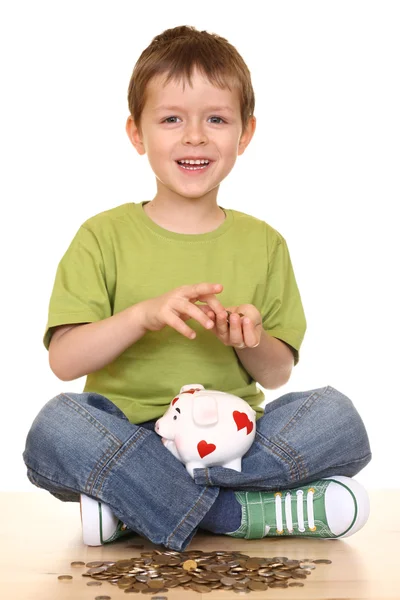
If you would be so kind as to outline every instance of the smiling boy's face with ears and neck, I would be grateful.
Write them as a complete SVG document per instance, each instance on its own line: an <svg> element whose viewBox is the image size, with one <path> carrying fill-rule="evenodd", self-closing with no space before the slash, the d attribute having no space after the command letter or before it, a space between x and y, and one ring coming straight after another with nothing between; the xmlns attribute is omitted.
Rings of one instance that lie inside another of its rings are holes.
<svg viewBox="0 0 400 600"><path fill-rule="evenodd" d="M164 76L158 76L149 82L142 135L129 116L128 137L139 154L147 152L157 178L156 197L177 194L216 199L219 184L253 137L256 119L250 119L241 135L239 92L213 86L197 70L193 87L186 82L184 90L182 83L170 81L163 87L163 81ZM178 159L192 156L212 162L204 172L185 171L178 166Z"/></svg>

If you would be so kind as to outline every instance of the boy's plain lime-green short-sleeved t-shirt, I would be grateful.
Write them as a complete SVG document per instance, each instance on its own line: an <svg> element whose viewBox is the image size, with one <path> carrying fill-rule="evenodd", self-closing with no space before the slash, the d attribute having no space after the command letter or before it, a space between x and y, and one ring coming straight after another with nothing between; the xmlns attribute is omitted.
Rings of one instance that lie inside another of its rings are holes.
<svg viewBox="0 0 400 600"><path fill-rule="evenodd" d="M61 259L43 343L52 327L100 321L186 284L221 283L225 307L253 304L264 329L289 344L295 364L306 320L285 239L264 221L223 209L214 231L175 233L160 227L143 204L126 203L88 219ZM222 207L221 207L222 208ZM86 378L85 392L114 402L132 423L164 414L183 385L235 394L263 414L265 396L234 348L194 319L189 340L166 325L149 331L103 369Z"/></svg>

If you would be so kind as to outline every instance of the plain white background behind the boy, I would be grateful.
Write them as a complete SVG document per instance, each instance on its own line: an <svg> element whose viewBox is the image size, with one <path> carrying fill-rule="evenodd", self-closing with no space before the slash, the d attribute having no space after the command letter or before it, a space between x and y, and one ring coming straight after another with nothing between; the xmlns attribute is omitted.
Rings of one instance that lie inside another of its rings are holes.
<svg viewBox="0 0 400 600"><path fill-rule="evenodd" d="M156 193L125 132L127 89L177 25L227 38L252 74L257 130L218 204L285 237L308 321L300 363L267 401L336 387L370 436L356 478L398 487L399 3L14 0L0 12L0 489L36 490L29 427L83 389L53 375L42 345L56 268L83 221Z"/></svg>

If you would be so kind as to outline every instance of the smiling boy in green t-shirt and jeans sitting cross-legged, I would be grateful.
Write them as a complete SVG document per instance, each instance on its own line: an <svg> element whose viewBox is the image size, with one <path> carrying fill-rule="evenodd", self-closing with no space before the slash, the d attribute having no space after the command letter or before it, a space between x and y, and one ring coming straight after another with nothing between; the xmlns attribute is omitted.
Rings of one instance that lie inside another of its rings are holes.
<svg viewBox="0 0 400 600"><path fill-rule="evenodd" d="M256 383L289 380L306 321L282 235L217 204L255 131L247 66L224 38L176 27L140 56L128 103L126 131L157 193L88 219L59 264L44 343L61 380L87 379L34 420L30 481L81 501L90 545L123 530L175 550L199 527L245 538L355 533L369 504L351 477L371 451L352 402L327 386L260 407ZM196 469L193 480L154 432L193 382L257 411L241 473Z"/></svg>

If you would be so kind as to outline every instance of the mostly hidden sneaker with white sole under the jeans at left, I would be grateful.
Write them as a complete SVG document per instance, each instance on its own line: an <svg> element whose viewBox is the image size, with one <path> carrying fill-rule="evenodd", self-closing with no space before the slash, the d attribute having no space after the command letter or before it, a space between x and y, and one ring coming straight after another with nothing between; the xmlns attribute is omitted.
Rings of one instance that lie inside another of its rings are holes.
<svg viewBox="0 0 400 600"><path fill-rule="evenodd" d="M87 546L101 546L134 533L107 504L81 494L80 505L83 543Z"/></svg>

